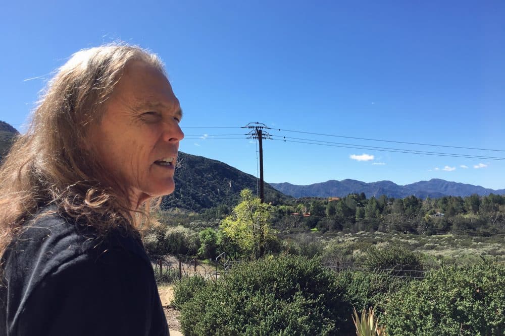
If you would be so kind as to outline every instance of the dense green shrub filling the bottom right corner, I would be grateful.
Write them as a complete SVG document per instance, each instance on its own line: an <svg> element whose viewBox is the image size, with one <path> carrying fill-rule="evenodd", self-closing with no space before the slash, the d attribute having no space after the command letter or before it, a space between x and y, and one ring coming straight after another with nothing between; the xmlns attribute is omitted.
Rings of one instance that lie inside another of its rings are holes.
<svg viewBox="0 0 505 336"><path fill-rule="evenodd" d="M388 335L505 334L505 265L443 266L391 297Z"/></svg>

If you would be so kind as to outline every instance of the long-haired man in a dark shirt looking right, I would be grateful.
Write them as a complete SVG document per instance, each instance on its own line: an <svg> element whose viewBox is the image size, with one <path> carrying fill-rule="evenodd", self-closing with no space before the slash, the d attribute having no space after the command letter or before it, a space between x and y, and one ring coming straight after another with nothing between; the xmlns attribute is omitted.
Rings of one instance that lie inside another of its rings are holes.
<svg viewBox="0 0 505 336"><path fill-rule="evenodd" d="M75 53L0 168L0 335L168 335L139 239L182 111L138 47Z"/></svg>

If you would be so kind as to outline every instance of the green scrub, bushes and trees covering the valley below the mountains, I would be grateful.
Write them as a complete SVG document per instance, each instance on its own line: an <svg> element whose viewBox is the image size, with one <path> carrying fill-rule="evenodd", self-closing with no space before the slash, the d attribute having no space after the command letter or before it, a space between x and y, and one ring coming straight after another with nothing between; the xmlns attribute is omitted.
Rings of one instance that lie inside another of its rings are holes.
<svg viewBox="0 0 505 336"><path fill-rule="evenodd" d="M145 235L151 255L240 261L176 281L185 334L505 333L505 197L240 196L161 211Z"/></svg>

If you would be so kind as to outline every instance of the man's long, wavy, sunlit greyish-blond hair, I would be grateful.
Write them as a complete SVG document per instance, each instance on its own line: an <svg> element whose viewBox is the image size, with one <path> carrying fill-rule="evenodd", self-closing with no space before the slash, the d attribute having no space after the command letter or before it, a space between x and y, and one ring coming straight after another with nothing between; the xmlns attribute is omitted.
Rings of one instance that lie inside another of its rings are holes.
<svg viewBox="0 0 505 336"><path fill-rule="evenodd" d="M84 145L132 60L165 74L155 54L109 44L73 54L49 81L27 132L17 137L0 167L0 256L23 223L49 205L99 232L138 228L127 190Z"/></svg>

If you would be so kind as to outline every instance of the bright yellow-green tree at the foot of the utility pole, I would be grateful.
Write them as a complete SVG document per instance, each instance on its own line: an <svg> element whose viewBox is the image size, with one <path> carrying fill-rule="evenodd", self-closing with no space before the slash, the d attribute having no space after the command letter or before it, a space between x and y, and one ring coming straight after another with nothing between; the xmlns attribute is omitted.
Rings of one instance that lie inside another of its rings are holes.
<svg viewBox="0 0 505 336"><path fill-rule="evenodd" d="M240 197L242 201L221 221L220 228L238 245L242 256L257 259L265 253L271 235L269 205L252 196L249 189L242 190Z"/></svg>

